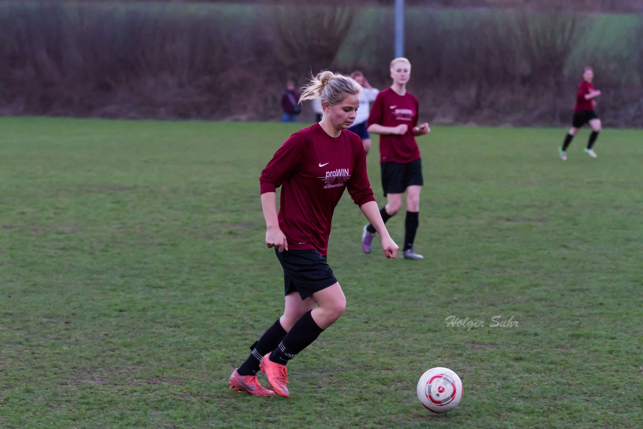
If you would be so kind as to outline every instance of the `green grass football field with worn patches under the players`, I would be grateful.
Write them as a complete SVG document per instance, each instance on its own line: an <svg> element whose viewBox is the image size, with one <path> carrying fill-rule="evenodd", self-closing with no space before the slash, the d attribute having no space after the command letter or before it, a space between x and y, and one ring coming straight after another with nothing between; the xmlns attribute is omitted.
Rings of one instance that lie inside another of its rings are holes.
<svg viewBox="0 0 643 429"><path fill-rule="evenodd" d="M362 253L345 196L345 315L288 399L230 390L282 309L258 175L300 125L0 118L1 427L643 426L643 131L563 162L563 129L433 127L426 259ZM464 383L446 415L415 397L433 366Z"/></svg>

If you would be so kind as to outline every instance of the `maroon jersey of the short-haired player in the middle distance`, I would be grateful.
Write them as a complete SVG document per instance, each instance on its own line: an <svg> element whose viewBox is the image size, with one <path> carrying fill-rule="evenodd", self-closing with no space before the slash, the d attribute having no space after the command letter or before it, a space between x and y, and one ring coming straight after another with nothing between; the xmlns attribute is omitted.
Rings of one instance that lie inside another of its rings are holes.
<svg viewBox="0 0 643 429"><path fill-rule="evenodd" d="M419 102L414 95L406 93L399 95L393 89L387 88L377 94L370 109L368 126L377 123L385 127L397 127L405 123L408 130L401 136L397 134L382 134L379 136L379 161L407 163L420 158L413 127L417 127Z"/></svg>

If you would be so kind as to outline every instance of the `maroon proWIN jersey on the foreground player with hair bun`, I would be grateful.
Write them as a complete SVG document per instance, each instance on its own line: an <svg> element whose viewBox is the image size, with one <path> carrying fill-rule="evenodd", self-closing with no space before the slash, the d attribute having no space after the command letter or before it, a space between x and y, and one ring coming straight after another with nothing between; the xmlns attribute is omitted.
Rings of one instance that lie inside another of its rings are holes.
<svg viewBox="0 0 643 429"><path fill-rule="evenodd" d="M322 256L344 190L358 206L375 201L359 136L344 130L333 138L319 123L290 136L259 182L262 194L282 187L278 219L289 250L314 249Z"/></svg>

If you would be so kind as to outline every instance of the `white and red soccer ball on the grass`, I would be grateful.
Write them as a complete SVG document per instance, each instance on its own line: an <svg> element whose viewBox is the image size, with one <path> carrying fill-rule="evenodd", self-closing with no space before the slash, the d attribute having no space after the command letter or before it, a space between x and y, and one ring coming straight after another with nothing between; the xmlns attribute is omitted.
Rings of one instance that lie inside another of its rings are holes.
<svg viewBox="0 0 643 429"><path fill-rule="evenodd" d="M417 382L417 399L434 413L453 410L462 399L462 381L448 368L431 368Z"/></svg>

